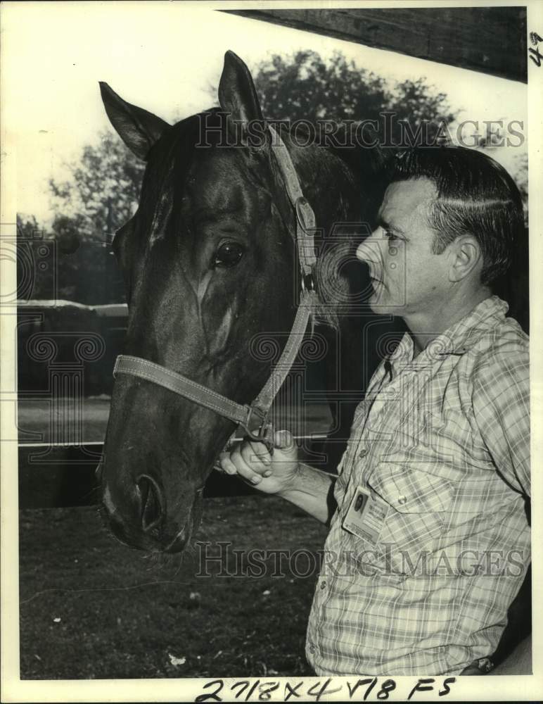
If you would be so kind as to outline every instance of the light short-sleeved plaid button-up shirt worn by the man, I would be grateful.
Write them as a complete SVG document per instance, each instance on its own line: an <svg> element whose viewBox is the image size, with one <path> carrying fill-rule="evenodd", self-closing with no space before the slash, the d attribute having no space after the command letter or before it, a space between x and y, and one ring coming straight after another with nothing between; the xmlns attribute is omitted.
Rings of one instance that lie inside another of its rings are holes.
<svg viewBox="0 0 543 704"><path fill-rule="evenodd" d="M317 674L458 674L492 655L530 562L528 337L497 296L373 375L338 467L307 629ZM343 527L357 486L373 539Z"/></svg>

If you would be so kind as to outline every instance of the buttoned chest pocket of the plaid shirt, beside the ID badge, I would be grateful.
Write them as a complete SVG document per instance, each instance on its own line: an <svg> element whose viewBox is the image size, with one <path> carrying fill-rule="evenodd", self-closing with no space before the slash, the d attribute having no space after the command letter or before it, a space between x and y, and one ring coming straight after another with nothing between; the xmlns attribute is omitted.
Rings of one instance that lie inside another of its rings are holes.
<svg viewBox="0 0 543 704"><path fill-rule="evenodd" d="M425 553L433 553L454 500L454 482L431 474L431 467L381 462L367 480L388 504L378 548L402 574Z"/></svg>

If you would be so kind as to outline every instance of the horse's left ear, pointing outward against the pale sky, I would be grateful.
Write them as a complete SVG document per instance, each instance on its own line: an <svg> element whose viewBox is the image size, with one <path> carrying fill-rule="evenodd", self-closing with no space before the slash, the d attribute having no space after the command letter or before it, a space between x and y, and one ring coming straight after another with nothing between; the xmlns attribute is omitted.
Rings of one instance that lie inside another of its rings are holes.
<svg viewBox="0 0 543 704"><path fill-rule="evenodd" d="M108 118L117 134L130 151L146 161L149 150L165 130L170 129L170 125L153 113L127 103L102 81L100 92Z"/></svg>

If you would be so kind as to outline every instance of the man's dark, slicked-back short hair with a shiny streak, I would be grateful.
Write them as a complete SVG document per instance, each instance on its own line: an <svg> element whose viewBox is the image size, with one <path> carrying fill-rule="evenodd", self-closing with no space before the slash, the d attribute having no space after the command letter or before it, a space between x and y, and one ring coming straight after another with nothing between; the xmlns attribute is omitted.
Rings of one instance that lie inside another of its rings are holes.
<svg viewBox="0 0 543 704"><path fill-rule="evenodd" d="M524 232L520 192L506 170L484 152L460 146L414 147L397 155L391 182L423 177L437 188L428 213L436 232L433 252L472 234L483 253L481 282L504 274Z"/></svg>

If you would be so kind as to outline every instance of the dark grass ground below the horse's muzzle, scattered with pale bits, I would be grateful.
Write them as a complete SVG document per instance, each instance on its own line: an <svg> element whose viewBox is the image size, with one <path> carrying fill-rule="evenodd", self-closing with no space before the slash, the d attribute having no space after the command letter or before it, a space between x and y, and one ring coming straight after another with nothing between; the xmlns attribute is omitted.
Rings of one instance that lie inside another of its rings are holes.
<svg viewBox="0 0 543 704"><path fill-rule="evenodd" d="M318 551L326 535L275 497L209 498L204 511L196 539L210 553L218 541ZM223 555L215 572L234 563ZM317 575L283 567L283 577L203 577L198 552L153 560L116 543L96 508L23 510L21 678L310 674L305 627Z"/></svg>

